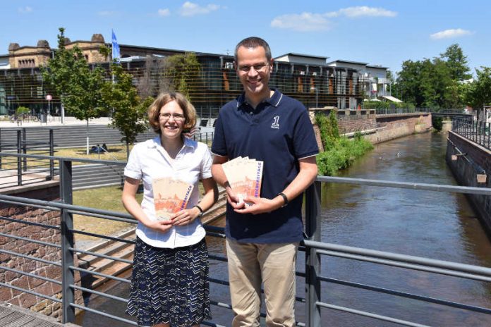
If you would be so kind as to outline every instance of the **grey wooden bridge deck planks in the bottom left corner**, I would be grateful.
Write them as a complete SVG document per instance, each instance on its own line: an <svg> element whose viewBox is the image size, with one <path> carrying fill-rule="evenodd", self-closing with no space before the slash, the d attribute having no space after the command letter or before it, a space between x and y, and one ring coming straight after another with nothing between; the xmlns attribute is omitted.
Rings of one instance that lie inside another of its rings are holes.
<svg viewBox="0 0 491 327"><path fill-rule="evenodd" d="M38 312L0 302L1 327L80 327L73 323L59 323L56 319Z"/></svg>

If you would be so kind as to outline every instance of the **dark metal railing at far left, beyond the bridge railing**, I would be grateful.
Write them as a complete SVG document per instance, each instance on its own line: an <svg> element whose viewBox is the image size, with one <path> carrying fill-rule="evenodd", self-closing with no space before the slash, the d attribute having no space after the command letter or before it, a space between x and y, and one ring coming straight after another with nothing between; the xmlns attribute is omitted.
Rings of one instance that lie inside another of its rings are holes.
<svg viewBox="0 0 491 327"><path fill-rule="evenodd" d="M28 140L25 128L16 130L15 142L0 140L0 188L40 183L54 178L54 160L10 154L54 156L53 130L45 129L47 140ZM8 155L6 154L8 153Z"/></svg>

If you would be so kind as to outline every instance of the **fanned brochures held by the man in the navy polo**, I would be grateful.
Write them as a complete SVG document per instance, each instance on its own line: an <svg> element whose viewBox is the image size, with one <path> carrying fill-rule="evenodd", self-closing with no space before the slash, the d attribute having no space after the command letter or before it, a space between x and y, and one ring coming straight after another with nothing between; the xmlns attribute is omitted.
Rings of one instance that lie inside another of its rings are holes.
<svg viewBox="0 0 491 327"><path fill-rule="evenodd" d="M222 164L230 187L237 195L239 202L244 198L260 197L263 161L238 156ZM246 205L249 205L247 202Z"/></svg>

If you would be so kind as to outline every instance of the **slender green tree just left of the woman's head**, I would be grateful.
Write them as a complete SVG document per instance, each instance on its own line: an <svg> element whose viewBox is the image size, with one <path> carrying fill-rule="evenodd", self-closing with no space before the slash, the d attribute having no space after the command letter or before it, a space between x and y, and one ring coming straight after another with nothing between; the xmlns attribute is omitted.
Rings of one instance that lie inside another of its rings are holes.
<svg viewBox="0 0 491 327"><path fill-rule="evenodd" d="M147 97L141 101L138 91L133 86L133 76L123 71L119 64L111 64L114 82L107 82L102 90L104 104L113 111L112 121L109 124L117 128L123 137L121 142L126 143L126 156L129 156L129 144L136 142L139 133L148 129L147 108L152 104L153 98Z"/></svg>

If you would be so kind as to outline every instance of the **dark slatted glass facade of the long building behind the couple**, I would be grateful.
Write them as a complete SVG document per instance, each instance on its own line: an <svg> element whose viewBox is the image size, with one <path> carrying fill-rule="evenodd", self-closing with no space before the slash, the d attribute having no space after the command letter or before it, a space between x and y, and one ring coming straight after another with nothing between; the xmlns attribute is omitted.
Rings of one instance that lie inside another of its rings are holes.
<svg viewBox="0 0 491 327"><path fill-rule="evenodd" d="M123 52L123 49L122 49ZM232 56L196 54L200 71L186 80L191 101L203 118L216 118L226 102L242 92ZM172 90L171 81L164 77L164 61L159 58L138 58L122 63L131 73L134 85L142 95L155 97L159 92ZM107 64L104 64L108 67ZM299 65L275 62L270 85L298 99L307 107L337 106L356 109L363 99L359 74L351 68ZM51 107L59 108L59 96L47 90L39 68L0 70L0 114L13 114L18 106L27 106L32 113L47 110L46 94L53 95ZM52 111L56 115L56 110Z"/></svg>

